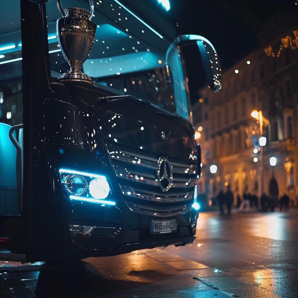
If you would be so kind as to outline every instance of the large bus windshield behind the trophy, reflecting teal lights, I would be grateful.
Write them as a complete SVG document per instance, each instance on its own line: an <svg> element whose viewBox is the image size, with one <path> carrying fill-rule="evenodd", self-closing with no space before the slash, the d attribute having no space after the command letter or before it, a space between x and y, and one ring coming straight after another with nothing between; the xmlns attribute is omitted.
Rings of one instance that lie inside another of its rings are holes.
<svg viewBox="0 0 298 298"><path fill-rule="evenodd" d="M89 1L63 0L63 8L90 11ZM46 4L51 71L69 71L57 40L56 22L62 18L56 1ZM96 41L82 71L96 83L122 91L171 113L176 113L174 93L165 66L170 43L119 1L94 2ZM98 86L98 85L97 85Z"/></svg>

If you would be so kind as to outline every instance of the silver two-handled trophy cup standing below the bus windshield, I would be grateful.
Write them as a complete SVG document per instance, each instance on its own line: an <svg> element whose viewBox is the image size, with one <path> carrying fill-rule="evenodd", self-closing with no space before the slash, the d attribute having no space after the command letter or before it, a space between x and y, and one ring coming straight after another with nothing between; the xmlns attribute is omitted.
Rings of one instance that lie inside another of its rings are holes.
<svg viewBox="0 0 298 298"><path fill-rule="evenodd" d="M57 37L61 52L70 65L70 71L58 78L59 82L78 81L94 85L81 67L89 56L95 41L96 24L91 21L94 13L93 0L89 10L71 7L63 10L60 0L57 5L63 18L57 20Z"/></svg>

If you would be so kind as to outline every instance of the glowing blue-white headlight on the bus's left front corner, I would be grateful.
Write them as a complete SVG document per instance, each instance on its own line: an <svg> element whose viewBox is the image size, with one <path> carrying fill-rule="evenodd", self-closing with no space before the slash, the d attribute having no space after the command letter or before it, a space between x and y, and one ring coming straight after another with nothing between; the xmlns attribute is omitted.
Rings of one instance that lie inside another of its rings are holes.
<svg viewBox="0 0 298 298"><path fill-rule="evenodd" d="M59 174L71 200L116 205L107 199L111 189L105 176L69 169L59 169Z"/></svg>

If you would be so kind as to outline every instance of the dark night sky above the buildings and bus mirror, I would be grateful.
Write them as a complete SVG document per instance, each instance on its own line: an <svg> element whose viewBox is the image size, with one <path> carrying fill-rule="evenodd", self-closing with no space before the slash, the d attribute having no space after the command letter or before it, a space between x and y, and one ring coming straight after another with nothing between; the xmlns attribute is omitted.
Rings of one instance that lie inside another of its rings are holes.
<svg viewBox="0 0 298 298"><path fill-rule="evenodd" d="M257 34L273 15L296 14L298 23L298 5L295 5L295 2L295 0L170 1L174 18L179 25L179 34L198 34L209 39L221 58L223 71L252 50L259 48ZM189 49L190 53L192 50ZM195 67L187 69L190 78L193 77L194 68L201 67L199 60L200 58L193 61ZM206 83L204 76L203 80L200 77L201 73L202 71L198 72L195 82L190 80L190 88L195 85L198 89ZM192 100L196 98L193 97Z"/></svg>

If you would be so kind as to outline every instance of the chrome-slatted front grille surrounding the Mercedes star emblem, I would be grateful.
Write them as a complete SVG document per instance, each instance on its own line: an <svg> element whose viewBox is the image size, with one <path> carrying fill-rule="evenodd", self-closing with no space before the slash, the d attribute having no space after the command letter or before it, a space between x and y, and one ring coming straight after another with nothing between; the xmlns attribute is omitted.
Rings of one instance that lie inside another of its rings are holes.
<svg viewBox="0 0 298 298"><path fill-rule="evenodd" d="M179 162L171 161L169 158L168 161L173 172L173 184L168 192L163 192L158 181L160 159L150 153L149 156L140 154L137 152L140 150L135 148L123 150L121 144L106 144L106 148L123 198L132 212L170 217L184 214L190 210L194 197L195 161ZM175 188L179 188L179 190L175 191ZM140 202L141 204L139 204ZM176 205L165 206L170 203L176 203Z"/></svg>

